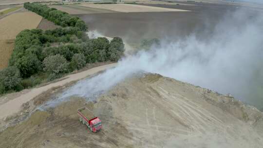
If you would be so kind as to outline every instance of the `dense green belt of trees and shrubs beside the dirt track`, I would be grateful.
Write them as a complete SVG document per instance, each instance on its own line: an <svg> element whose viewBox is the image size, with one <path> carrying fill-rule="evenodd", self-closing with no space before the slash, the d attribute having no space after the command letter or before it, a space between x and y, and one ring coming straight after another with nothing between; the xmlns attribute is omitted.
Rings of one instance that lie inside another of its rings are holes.
<svg viewBox="0 0 263 148"><path fill-rule="evenodd" d="M79 27L79 19L74 19L76 17L59 12L73 18L73 22L61 23L61 18L53 16L51 11L47 13L50 8L46 9L45 5L25 3L24 6L53 18L50 20L57 21L57 24L66 24L66 27L46 31L27 29L17 35L8 67L0 71L0 94L59 78L81 69L87 63L115 62L123 55L124 43L120 37L111 41L105 37L89 39L84 32L87 29L85 23L85 27Z"/></svg>

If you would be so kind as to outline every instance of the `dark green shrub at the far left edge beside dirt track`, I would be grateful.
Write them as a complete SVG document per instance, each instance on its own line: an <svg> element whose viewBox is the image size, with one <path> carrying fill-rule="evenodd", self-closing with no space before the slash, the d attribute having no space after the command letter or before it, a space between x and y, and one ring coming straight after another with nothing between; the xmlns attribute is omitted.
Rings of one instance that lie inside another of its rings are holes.
<svg viewBox="0 0 263 148"><path fill-rule="evenodd" d="M10 90L20 91L21 87L20 72L17 67L10 66L0 71L0 93Z"/></svg>

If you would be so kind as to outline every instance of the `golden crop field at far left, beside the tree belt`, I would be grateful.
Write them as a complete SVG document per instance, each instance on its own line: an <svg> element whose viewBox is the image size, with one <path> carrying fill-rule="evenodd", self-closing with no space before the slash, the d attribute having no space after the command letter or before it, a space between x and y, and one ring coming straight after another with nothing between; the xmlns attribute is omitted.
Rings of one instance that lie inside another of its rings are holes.
<svg viewBox="0 0 263 148"><path fill-rule="evenodd" d="M0 69L8 64L14 47L12 40L24 29L37 28L41 19L41 16L33 12L14 13L0 19Z"/></svg>

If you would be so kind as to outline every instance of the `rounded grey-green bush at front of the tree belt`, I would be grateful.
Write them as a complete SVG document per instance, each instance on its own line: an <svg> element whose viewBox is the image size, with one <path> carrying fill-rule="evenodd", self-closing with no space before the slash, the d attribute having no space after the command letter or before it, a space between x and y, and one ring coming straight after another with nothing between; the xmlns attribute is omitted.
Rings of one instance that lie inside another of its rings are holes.
<svg viewBox="0 0 263 148"><path fill-rule="evenodd" d="M68 72L69 64L61 55L48 56L43 60L44 71L53 75L65 74Z"/></svg>

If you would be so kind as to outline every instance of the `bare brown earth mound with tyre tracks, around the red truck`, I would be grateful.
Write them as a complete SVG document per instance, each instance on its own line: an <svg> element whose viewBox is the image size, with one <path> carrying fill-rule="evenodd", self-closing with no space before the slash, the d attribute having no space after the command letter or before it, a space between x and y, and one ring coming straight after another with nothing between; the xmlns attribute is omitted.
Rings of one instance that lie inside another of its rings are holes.
<svg viewBox="0 0 263 148"><path fill-rule="evenodd" d="M77 109L102 120L92 133ZM262 148L263 113L158 74L136 75L96 102L72 97L0 133L1 148Z"/></svg>

